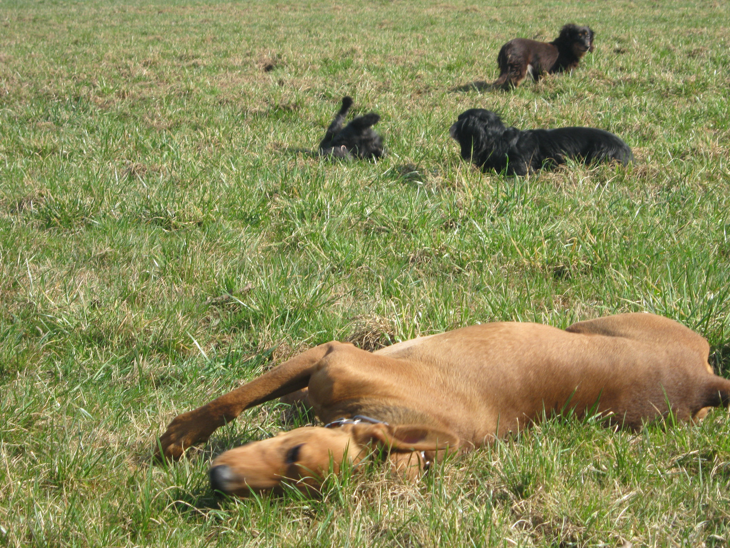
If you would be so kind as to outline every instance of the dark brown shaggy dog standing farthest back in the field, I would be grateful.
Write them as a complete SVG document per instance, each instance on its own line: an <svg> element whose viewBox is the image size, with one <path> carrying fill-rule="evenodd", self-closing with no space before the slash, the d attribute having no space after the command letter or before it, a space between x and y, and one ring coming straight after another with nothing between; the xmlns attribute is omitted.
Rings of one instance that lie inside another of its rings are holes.
<svg viewBox="0 0 730 548"><path fill-rule="evenodd" d="M515 38L499 50L496 88L516 88L529 74L537 82L546 73L572 70L587 51L593 51L595 33L587 26L566 25L553 42Z"/></svg>

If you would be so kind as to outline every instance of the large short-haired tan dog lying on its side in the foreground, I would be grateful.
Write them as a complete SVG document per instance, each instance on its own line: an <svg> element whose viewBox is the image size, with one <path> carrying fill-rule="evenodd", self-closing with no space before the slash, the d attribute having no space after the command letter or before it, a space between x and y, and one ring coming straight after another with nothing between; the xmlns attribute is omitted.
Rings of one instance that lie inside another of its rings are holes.
<svg viewBox="0 0 730 548"><path fill-rule="evenodd" d="M377 446L393 468L418 476L437 452L488 444L553 413L593 411L631 430L670 410L678 420L702 419L730 403L730 381L712 373L709 351L700 335L648 313L566 330L475 325L372 353L331 342L177 416L159 449L177 459L244 409L308 387L315 413L333 427L297 428L221 454L210 471L215 490L244 495L283 482L316 489L330 465L357 466Z"/></svg>

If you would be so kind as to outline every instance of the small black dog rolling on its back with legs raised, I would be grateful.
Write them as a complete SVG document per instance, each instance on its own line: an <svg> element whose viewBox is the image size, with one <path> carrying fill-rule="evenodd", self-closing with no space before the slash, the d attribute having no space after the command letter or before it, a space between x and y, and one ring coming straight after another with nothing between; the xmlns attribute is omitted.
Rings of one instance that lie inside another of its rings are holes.
<svg viewBox="0 0 730 548"><path fill-rule="evenodd" d="M384 156L383 139L374 132L372 126L380 120L380 116L369 113L358 116L342 129L347 110L353 104L349 96L342 97L342 108L327 128L327 133L320 142L320 156L335 158L381 158Z"/></svg>

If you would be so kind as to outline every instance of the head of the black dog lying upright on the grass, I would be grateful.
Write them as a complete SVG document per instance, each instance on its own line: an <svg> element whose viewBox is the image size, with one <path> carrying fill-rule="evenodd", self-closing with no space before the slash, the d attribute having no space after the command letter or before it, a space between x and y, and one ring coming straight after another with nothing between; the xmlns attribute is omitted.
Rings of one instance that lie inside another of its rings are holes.
<svg viewBox="0 0 730 548"><path fill-rule="evenodd" d="M485 152L491 153L496 148L496 142L502 140L505 131L507 128L496 113L483 108L471 108L458 115L449 134L461 145L463 159L474 159L478 164L483 164Z"/></svg>

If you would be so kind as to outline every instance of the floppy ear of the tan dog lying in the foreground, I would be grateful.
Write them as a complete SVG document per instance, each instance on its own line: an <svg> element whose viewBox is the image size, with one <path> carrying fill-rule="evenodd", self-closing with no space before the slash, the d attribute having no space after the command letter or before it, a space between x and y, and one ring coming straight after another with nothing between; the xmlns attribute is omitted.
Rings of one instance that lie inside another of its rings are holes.
<svg viewBox="0 0 730 548"><path fill-rule="evenodd" d="M454 433L426 425L353 425L353 438L361 446L374 441L391 451L453 451L459 444Z"/></svg>

